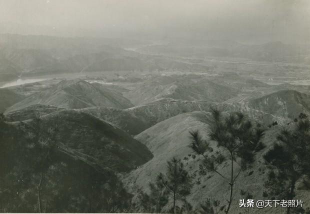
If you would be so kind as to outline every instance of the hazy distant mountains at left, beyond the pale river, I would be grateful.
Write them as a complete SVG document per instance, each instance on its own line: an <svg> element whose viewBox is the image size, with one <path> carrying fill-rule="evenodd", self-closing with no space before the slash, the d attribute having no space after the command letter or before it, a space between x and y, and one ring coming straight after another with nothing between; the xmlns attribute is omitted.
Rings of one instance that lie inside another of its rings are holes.
<svg viewBox="0 0 310 214"><path fill-rule="evenodd" d="M207 69L123 49L113 39L0 34L0 77L89 71Z"/></svg>

